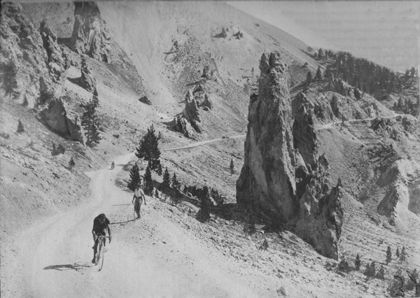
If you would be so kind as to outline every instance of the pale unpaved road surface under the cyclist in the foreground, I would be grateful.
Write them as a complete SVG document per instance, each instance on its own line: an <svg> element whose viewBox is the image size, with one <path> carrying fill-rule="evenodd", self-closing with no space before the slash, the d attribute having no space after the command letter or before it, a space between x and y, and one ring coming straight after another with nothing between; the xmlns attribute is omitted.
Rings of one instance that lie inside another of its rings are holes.
<svg viewBox="0 0 420 298"><path fill-rule="evenodd" d="M16 239L23 257L15 267L22 276L9 288L21 288L20 297L258 297L221 272L217 260L203 257L208 248L163 217L156 210L160 201L147 197L141 219L133 220L132 193L114 183L131 159L134 154L115 159L113 170L90 172L90 202ZM90 262L92 221L99 213L111 220L113 236L102 271Z"/></svg>

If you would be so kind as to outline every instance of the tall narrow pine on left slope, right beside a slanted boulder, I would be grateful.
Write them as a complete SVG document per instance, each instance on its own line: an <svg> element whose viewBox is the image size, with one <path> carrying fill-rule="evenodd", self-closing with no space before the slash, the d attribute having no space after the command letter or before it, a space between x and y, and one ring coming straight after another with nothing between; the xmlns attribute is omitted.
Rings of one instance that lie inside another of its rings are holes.
<svg viewBox="0 0 420 298"><path fill-rule="evenodd" d="M96 113L96 109L99 106L97 91L94 90L92 99L81 106L85 109L81 122L85 129L86 146L95 148L102 140L102 137L99 136L99 120Z"/></svg>

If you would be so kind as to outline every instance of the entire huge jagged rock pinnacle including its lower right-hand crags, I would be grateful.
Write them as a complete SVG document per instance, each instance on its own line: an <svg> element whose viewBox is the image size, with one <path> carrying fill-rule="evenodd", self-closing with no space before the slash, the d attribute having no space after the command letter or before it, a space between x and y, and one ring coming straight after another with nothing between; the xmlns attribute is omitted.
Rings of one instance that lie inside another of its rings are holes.
<svg viewBox="0 0 420 298"><path fill-rule="evenodd" d="M237 203L258 206L319 253L337 259L340 183L328 189L328 161L317 155L311 111L300 106L293 122L288 74L278 52L262 55L260 71L259 94L249 104Z"/></svg>

